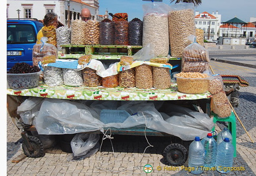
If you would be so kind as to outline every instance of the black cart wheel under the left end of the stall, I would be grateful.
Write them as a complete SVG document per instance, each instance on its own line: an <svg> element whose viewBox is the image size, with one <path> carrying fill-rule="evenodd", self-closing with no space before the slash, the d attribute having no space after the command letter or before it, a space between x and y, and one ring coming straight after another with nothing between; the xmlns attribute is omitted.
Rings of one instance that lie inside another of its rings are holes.
<svg viewBox="0 0 256 176"><path fill-rule="evenodd" d="M30 158L39 158L45 155L44 153L44 148L43 148L43 143L35 137L35 136L28 136L28 140L33 148L33 152L28 151L27 146L23 142L22 148L23 152L26 156Z"/></svg>

